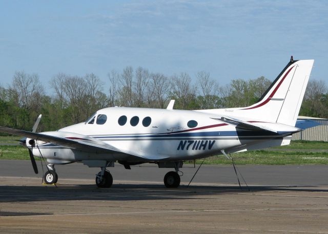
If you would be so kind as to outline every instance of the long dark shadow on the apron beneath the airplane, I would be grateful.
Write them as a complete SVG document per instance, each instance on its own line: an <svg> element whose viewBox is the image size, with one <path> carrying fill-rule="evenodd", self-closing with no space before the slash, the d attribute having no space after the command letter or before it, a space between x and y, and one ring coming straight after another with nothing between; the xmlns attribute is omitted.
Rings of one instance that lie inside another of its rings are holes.
<svg viewBox="0 0 328 234"><path fill-rule="evenodd" d="M320 187L296 186L186 186L168 189L163 185L153 184L117 184L111 188L97 188L94 185L58 185L51 186L0 186L1 202L32 202L32 201L135 201L135 200L178 200L200 199L197 196L219 194L248 194L257 192L328 192Z"/></svg>

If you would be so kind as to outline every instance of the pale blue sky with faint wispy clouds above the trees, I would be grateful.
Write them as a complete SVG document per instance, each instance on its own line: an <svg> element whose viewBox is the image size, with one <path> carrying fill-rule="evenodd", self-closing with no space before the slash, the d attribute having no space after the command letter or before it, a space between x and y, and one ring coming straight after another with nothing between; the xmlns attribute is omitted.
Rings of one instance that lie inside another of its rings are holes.
<svg viewBox="0 0 328 234"><path fill-rule="evenodd" d="M106 81L126 66L273 80L291 55L315 59L311 79L328 83L328 1L0 0L4 87L15 71L47 88L58 72Z"/></svg>

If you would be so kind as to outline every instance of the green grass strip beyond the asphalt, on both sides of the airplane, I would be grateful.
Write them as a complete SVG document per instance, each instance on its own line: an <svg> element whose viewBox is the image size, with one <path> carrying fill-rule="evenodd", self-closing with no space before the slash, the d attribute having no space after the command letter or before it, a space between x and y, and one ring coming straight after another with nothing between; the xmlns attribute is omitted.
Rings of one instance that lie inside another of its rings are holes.
<svg viewBox="0 0 328 234"><path fill-rule="evenodd" d="M19 137L0 136L1 143L17 143ZM249 151L232 154L236 164L290 165L290 164L328 164L327 152L311 152L312 150L328 150L328 142L323 141L292 141L290 145L274 147L279 151ZM285 151L281 151L285 149ZM289 149L297 149L289 151ZM302 151L302 150L308 151ZM310 151L309 151L310 150ZM0 159L29 160L27 148L20 145L0 145ZM36 160L39 160L35 157ZM200 163L202 159L196 160ZM188 162L186 162L188 163ZM193 161L190 161L193 163ZM231 164L223 155L204 159L204 164Z"/></svg>

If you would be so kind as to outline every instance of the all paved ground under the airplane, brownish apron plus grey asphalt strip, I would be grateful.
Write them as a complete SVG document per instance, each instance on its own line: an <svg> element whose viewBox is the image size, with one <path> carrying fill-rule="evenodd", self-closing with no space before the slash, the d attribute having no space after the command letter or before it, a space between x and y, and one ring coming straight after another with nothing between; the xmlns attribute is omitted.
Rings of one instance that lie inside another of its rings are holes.
<svg viewBox="0 0 328 234"><path fill-rule="evenodd" d="M54 186L27 175L28 161L26 173L8 168L19 163L0 160L0 233L328 233L328 166L239 166L248 190L220 175L229 166L201 168L217 182L197 174L189 187L197 168L183 168L181 186L168 189L159 168L129 174L115 165L113 186L100 189L87 179L97 168L71 164L58 173L58 166Z"/></svg>

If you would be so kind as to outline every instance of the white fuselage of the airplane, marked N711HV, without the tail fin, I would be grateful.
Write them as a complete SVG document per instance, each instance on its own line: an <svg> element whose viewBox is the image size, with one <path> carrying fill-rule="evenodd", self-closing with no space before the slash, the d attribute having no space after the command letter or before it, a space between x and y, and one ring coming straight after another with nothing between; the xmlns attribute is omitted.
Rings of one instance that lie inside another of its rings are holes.
<svg viewBox="0 0 328 234"><path fill-rule="evenodd" d="M68 161L181 161L218 155L223 149L229 152L229 148L252 142L282 139L281 133L236 130L234 125L217 118L217 114L199 111L106 108L97 111L86 122L45 134L94 140L140 157L79 152L52 143L40 143L39 149L33 149L33 154L40 156L39 150L42 150L44 158Z"/></svg>

